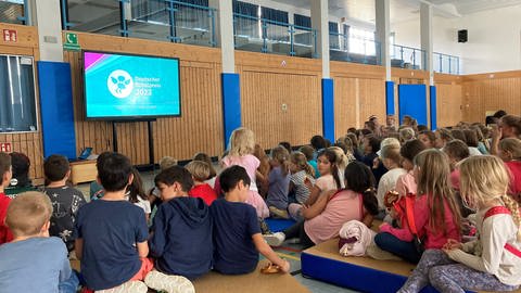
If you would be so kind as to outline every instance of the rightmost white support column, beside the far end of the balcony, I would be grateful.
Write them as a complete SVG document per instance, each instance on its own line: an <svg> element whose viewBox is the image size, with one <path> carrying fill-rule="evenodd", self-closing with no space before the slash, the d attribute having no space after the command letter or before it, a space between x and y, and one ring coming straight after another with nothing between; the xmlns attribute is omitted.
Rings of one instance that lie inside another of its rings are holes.
<svg viewBox="0 0 521 293"><path fill-rule="evenodd" d="M422 69L429 72L429 84L434 86L434 74L432 66L432 5L428 3L420 4L420 28L421 28L421 50L425 54L421 56Z"/></svg>

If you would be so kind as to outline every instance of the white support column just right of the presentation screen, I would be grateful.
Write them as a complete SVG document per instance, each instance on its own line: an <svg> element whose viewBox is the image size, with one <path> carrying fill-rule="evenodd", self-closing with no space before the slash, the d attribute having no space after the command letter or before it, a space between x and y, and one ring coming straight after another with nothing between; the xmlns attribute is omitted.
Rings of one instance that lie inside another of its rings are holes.
<svg viewBox="0 0 521 293"><path fill-rule="evenodd" d="M216 41L223 54L223 73L236 72L234 39L233 39L233 7L232 0L211 0L209 7L217 9Z"/></svg>

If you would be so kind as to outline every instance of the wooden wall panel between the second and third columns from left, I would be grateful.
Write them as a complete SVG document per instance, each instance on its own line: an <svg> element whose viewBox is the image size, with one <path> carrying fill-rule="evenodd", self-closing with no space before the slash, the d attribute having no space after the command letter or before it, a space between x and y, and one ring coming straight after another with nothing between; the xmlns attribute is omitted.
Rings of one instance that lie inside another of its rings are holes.
<svg viewBox="0 0 521 293"><path fill-rule="evenodd" d="M304 73L241 74L242 122L264 149L309 143L322 132L320 79ZM284 106L285 105L285 106ZM284 110L285 109L285 110Z"/></svg>

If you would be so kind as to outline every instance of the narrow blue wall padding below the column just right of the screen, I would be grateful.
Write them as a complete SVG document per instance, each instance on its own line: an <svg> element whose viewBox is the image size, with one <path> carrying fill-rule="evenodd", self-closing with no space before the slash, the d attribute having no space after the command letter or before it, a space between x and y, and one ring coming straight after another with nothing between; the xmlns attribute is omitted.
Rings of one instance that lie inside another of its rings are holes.
<svg viewBox="0 0 521 293"><path fill-rule="evenodd" d="M223 88L223 122L225 128L225 150L231 132L241 127L241 86L239 74L223 73L220 75Z"/></svg>

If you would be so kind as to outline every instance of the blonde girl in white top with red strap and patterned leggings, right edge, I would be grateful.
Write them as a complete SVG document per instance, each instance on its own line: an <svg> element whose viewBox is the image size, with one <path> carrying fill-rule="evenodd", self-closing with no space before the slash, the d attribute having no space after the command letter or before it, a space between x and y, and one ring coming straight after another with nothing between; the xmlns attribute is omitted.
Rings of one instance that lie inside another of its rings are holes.
<svg viewBox="0 0 521 293"><path fill-rule="evenodd" d="M427 284L440 292L517 290L521 284L521 216L506 194L509 176L495 156L472 156L460 165L461 195L478 209L479 239L449 240L443 250L425 251L398 292L419 292Z"/></svg>

